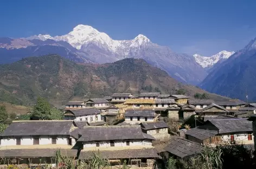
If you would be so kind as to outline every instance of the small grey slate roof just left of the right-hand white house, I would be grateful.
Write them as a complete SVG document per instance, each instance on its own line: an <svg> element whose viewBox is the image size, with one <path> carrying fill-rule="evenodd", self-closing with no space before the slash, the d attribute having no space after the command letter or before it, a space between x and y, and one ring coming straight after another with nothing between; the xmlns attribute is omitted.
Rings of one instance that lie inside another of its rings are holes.
<svg viewBox="0 0 256 169"><path fill-rule="evenodd" d="M205 140L208 139L215 134L217 134L217 131L215 130L209 130L209 129L201 129L201 128L191 128L185 132L186 135L191 135L194 138Z"/></svg>

